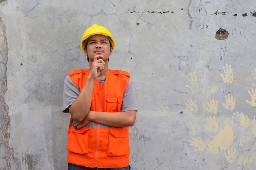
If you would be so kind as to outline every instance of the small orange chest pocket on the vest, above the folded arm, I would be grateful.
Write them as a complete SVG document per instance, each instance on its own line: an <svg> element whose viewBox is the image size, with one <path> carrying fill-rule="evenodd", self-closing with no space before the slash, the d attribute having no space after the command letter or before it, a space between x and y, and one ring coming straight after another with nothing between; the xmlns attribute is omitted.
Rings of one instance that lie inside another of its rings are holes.
<svg viewBox="0 0 256 170"><path fill-rule="evenodd" d="M106 108L108 112L120 112L122 108L123 103L123 97L122 96L106 96Z"/></svg>

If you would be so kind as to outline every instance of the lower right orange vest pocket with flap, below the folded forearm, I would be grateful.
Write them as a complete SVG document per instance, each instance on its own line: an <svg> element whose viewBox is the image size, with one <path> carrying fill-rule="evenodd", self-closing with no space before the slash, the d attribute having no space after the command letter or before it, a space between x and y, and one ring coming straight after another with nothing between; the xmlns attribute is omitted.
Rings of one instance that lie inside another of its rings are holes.
<svg viewBox="0 0 256 170"><path fill-rule="evenodd" d="M109 128L108 156L126 156L129 153L127 128Z"/></svg>

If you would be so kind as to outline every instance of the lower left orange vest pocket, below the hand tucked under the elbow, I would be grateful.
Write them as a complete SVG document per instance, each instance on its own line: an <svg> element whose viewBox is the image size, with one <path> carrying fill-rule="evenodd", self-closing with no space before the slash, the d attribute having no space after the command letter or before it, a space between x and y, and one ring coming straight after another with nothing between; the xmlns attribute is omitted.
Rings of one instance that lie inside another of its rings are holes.
<svg viewBox="0 0 256 170"><path fill-rule="evenodd" d="M88 153L89 127L83 126L79 130L71 128L67 139L67 150L78 154Z"/></svg>

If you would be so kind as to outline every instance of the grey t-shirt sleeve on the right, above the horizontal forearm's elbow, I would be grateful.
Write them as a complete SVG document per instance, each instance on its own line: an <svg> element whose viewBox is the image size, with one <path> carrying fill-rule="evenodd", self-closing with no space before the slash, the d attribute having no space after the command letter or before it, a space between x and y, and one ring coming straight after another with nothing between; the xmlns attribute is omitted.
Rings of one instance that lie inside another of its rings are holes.
<svg viewBox="0 0 256 170"><path fill-rule="evenodd" d="M130 77L128 86L124 92L123 103L122 103L122 112L128 110L137 110L139 111L139 104L137 100L135 84Z"/></svg>

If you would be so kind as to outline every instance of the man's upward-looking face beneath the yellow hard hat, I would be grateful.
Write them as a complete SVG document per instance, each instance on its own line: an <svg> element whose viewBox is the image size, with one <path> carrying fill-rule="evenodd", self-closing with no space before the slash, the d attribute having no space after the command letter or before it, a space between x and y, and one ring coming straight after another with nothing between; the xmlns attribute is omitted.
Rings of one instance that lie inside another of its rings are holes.
<svg viewBox="0 0 256 170"><path fill-rule="evenodd" d="M108 38L103 35L94 35L88 40L87 47L85 48L85 55L89 57L89 60L94 59L95 56L102 58L104 61L108 60L112 54L110 48L110 42Z"/></svg>

